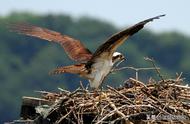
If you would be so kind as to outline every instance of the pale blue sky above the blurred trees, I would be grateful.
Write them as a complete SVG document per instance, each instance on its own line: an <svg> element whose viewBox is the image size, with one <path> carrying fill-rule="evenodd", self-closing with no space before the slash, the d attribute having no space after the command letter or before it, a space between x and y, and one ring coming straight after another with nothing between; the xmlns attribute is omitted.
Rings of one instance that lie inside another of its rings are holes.
<svg viewBox="0 0 190 124"><path fill-rule="evenodd" d="M0 15L12 11L91 16L122 28L166 14L148 25L154 31L177 30L190 35L190 0L2 0Z"/></svg>

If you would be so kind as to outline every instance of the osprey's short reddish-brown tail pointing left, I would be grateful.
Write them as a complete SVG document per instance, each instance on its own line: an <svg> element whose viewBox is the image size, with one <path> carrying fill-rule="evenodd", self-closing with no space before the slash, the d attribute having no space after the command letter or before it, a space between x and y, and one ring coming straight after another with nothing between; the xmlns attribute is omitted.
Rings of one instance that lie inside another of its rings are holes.
<svg viewBox="0 0 190 124"><path fill-rule="evenodd" d="M85 64L69 65L58 67L57 69L50 72L50 74L61 74L61 73L71 73L71 74L80 74L85 73Z"/></svg>

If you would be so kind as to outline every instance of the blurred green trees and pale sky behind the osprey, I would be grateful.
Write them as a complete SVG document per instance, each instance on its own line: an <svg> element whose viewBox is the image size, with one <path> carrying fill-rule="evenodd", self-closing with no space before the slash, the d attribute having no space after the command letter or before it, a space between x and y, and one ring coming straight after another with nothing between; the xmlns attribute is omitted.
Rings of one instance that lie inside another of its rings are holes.
<svg viewBox="0 0 190 124"><path fill-rule="evenodd" d="M57 66L70 65L63 49L54 43L18 35L6 28L7 23L28 22L81 40L94 51L113 33L139 21L166 14L146 25L118 51L127 57L121 66L151 67L143 58L154 58L164 78L183 72L190 81L190 1L139 0L6 0L0 2L0 123L19 118L22 96L35 96L35 90L58 92L57 87L74 90L75 75L50 76ZM134 71L111 74L105 85L119 86ZM157 78L154 71L140 73L140 80Z"/></svg>

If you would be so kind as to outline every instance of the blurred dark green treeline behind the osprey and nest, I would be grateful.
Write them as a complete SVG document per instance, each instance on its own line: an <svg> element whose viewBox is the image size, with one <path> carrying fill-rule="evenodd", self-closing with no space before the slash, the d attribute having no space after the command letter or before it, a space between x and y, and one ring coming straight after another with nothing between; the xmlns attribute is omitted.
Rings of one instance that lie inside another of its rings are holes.
<svg viewBox="0 0 190 124"><path fill-rule="evenodd" d="M70 35L81 40L92 51L120 30L98 19L72 18L64 14L12 13L0 17L0 111L3 113L0 120L2 122L18 117L23 95L33 95L34 90L57 91L57 87L72 90L79 86L80 80L87 83L86 80L70 74L50 76L48 72L52 69L72 64L73 61L69 60L58 44L10 32L6 28L7 24L15 22L27 22ZM153 57L164 77L174 77L176 72L183 72L186 81L190 80L190 38L179 32L153 33L149 29L144 29L131 37L118 51L127 57L127 62L122 66L150 67L152 65L144 61L143 57ZM142 80L148 80L156 74L148 71L140 75ZM118 86L130 76L134 76L134 72L125 70L110 75L105 82Z"/></svg>

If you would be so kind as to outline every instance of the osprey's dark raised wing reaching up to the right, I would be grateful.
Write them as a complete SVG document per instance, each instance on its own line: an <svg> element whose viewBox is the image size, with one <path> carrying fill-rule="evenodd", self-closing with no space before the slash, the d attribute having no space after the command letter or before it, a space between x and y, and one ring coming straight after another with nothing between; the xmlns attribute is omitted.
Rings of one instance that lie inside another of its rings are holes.
<svg viewBox="0 0 190 124"><path fill-rule="evenodd" d="M130 36L137 33L139 30L141 30L144 25L150 21L153 21L154 19L159 19L160 17L165 15L159 15L153 18L146 19L144 21L141 21L132 27L129 27L119 33L114 34L111 36L104 44L102 44L93 54L93 57L91 61L94 61L96 58L100 57L109 57L111 59L112 54L114 51Z"/></svg>

